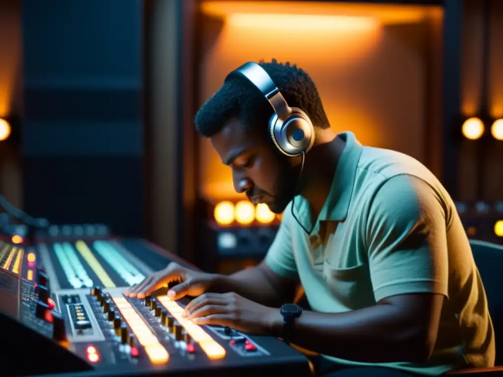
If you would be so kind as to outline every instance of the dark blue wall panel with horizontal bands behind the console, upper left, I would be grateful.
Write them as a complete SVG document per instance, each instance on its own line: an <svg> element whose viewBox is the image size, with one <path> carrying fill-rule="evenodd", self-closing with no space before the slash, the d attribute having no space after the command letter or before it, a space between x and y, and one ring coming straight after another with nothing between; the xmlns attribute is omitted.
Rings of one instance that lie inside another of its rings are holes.
<svg viewBox="0 0 503 377"><path fill-rule="evenodd" d="M142 235L142 2L23 1L24 207Z"/></svg>

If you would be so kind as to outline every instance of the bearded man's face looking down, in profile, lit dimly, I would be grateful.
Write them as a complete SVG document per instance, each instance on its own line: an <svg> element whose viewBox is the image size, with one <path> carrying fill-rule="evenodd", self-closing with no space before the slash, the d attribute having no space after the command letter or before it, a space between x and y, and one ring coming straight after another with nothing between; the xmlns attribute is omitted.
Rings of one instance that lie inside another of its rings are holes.
<svg viewBox="0 0 503 377"><path fill-rule="evenodd" d="M292 167L291 160L266 135L266 126L263 133L250 135L238 119L231 119L211 142L222 162L232 169L234 190L281 213L295 195L299 168Z"/></svg>

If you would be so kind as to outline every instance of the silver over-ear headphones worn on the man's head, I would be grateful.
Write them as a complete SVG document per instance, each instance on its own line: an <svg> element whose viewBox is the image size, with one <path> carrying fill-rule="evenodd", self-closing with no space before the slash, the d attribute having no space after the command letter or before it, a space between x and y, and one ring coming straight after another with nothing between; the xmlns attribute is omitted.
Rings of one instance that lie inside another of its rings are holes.
<svg viewBox="0 0 503 377"><path fill-rule="evenodd" d="M311 120L299 108L291 108L280 90L259 64L247 62L230 72L229 77L239 75L253 83L271 104L274 114L269 120L269 134L276 147L286 156L296 157L307 153L314 143Z"/></svg>

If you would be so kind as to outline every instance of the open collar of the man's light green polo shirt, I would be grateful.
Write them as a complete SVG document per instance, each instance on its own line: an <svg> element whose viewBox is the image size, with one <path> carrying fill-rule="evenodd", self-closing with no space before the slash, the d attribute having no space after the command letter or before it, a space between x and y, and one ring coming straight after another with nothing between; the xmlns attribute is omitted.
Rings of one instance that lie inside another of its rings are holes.
<svg viewBox="0 0 503 377"><path fill-rule="evenodd" d="M307 231L312 229L311 234L319 232L321 221L345 221L348 216L363 146L352 132L343 132L338 136L346 142L346 145L337 164L328 196L314 224L307 200L300 195L295 197L296 218Z"/></svg>

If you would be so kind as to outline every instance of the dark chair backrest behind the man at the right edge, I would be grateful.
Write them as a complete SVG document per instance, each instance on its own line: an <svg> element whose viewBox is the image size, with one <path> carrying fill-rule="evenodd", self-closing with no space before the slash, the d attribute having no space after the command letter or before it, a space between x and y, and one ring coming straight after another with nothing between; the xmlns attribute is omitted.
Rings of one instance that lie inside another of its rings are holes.
<svg viewBox="0 0 503 377"><path fill-rule="evenodd" d="M496 365L503 365L503 246L470 240L470 245L482 282L496 338Z"/></svg>

